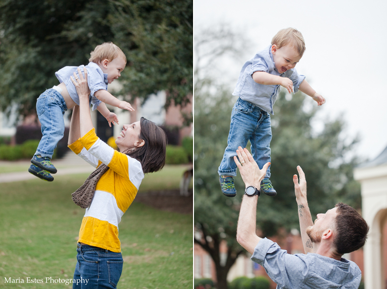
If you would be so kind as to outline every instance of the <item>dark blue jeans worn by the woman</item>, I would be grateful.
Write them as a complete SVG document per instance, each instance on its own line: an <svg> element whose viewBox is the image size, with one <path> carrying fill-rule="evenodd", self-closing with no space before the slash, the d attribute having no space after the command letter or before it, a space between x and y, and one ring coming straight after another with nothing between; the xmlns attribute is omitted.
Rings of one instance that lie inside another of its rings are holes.
<svg viewBox="0 0 387 289"><path fill-rule="evenodd" d="M116 288L122 264L121 253L78 243L73 289Z"/></svg>

